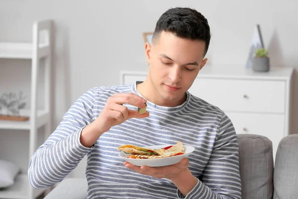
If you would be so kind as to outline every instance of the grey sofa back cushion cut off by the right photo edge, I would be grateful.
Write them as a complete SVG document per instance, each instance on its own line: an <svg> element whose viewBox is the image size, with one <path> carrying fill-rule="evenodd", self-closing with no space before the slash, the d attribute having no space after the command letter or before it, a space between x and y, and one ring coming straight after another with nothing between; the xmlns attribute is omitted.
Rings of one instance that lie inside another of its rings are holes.
<svg viewBox="0 0 298 199"><path fill-rule="evenodd" d="M298 198L298 134L288 135L280 141L273 180L273 199Z"/></svg>

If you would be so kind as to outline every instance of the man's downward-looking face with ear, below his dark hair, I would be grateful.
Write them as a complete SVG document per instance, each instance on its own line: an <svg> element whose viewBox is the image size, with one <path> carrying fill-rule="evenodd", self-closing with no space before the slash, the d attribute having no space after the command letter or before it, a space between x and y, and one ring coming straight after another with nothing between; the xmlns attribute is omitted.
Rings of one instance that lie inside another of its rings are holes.
<svg viewBox="0 0 298 199"><path fill-rule="evenodd" d="M159 97L169 101L183 99L207 62L203 60L204 52L204 41L181 39L164 31L152 46L147 44L148 78Z"/></svg>

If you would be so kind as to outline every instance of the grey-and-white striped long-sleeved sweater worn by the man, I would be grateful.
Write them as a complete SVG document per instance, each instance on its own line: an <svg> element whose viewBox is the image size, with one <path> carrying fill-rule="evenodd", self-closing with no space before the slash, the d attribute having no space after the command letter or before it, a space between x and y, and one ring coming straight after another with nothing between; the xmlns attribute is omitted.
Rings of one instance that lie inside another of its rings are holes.
<svg viewBox="0 0 298 199"><path fill-rule="evenodd" d="M240 199L234 127L222 110L189 92L187 100L176 107L148 101L149 117L132 118L113 126L91 148L81 145L82 128L98 117L106 100L115 93L140 95L138 83L90 89L76 100L34 153L28 169L30 185L41 189L62 181L87 155L88 199ZM120 145L173 145L177 141L195 147L188 159L198 183L186 197L170 180L130 170L118 156Z"/></svg>

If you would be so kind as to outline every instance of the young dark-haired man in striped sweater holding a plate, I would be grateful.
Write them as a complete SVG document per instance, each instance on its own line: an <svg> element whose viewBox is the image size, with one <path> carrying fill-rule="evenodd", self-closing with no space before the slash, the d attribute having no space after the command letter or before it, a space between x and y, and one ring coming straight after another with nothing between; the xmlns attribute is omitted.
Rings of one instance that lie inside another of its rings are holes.
<svg viewBox="0 0 298 199"><path fill-rule="evenodd" d="M210 37L196 10L163 13L145 46L146 81L82 95L32 157L31 186L62 181L87 155L88 199L240 199L234 127L222 110L188 92L207 62ZM145 103L147 113L139 114ZM137 167L118 156L121 145L177 141L196 150L175 165Z"/></svg>

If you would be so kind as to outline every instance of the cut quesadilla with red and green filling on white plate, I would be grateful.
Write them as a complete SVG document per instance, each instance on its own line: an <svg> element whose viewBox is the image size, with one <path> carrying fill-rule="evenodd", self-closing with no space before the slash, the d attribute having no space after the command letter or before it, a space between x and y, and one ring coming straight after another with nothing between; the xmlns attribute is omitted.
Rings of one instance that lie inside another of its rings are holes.
<svg viewBox="0 0 298 199"><path fill-rule="evenodd" d="M185 148L183 144L178 141L175 145L170 145L160 149L148 149L135 145L123 145L118 147L119 151L130 153L128 158L134 159L152 159L152 158L166 158L175 155L184 154Z"/></svg>

